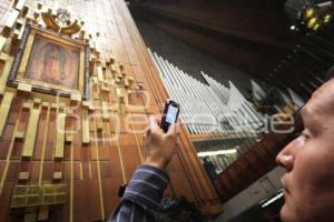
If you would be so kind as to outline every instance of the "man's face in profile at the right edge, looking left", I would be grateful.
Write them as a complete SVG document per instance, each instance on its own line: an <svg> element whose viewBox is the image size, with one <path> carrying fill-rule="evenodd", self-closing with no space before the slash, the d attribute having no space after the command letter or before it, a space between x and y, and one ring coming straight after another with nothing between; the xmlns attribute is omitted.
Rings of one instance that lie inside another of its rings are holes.
<svg viewBox="0 0 334 222"><path fill-rule="evenodd" d="M303 133L278 153L284 222L334 221L334 84L315 92L302 109Z"/></svg>

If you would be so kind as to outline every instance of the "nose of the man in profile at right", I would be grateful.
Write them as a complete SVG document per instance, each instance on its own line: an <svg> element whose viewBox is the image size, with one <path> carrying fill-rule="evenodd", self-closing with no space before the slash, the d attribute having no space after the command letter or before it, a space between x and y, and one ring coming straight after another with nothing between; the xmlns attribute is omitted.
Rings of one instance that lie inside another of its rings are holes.
<svg viewBox="0 0 334 222"><path fill-rule="evenodd" d="M296 140L288 143L276 157L276 163L287 171L291 171L294 167Z"/></svg>

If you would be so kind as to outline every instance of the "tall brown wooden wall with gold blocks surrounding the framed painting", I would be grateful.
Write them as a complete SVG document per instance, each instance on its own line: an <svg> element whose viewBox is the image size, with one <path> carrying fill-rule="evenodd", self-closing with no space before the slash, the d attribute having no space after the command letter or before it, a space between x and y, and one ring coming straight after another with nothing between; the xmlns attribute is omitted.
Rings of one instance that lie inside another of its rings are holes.
<svg viewBox="0 0 334 222"><path fill-rule="evenodd" d="M0 139L1 221L23 220L28 205L11 208L11 199L17 195L18 188L31 189L31 185L40 192L53 192L52 189L58 188L56 191L66 194L56 205L41 200L31 213L47 212L52 221L106 220L119 201L119 185L129 182L143 161L141 137L147 127L144 120L160 114L168 98L122 0L70 4L71 16L85 21L84 38L89 41L90 98L80 101L82 98L76 99L75 94L56 98L31 91L29 87L6 87L4 93L16 93L16 97ZM56 11L56 6L66 7L62 1L53 0L38 9L36 1L28 0L28 14L20 16L27 22L43 27L35 12L48 8ZM18 47L9 48L12 53L10 50L3 53L14 57ZM33 112L37 109L39 114ZM57 119L60 115L66 117L61 124ZM30 120L35 120L36 125L27 132ZM31 139L29 133L37 135L29 147L33 152L31 159L22 159L23 145ZM59 148L58 154L56 148ZM185 129L168 172L171 181L166 193L186 195L204 213L220 212L220 202ZM19 180L19 174L28 176ZM59 185L62 185L60 191Z"/></svg>

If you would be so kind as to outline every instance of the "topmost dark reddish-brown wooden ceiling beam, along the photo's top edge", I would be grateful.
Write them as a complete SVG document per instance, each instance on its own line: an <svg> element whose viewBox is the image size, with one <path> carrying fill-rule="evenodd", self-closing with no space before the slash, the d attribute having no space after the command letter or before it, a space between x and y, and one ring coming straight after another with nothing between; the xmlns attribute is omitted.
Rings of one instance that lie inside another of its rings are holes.
<svg viewBox="0 0 334 222"><path fill-rule="evenodd" d="M140 10L275 48L287 49L294 44L288 22L281 12L202 1L188 3L186 0L179 3L148 4Z"/></svg>

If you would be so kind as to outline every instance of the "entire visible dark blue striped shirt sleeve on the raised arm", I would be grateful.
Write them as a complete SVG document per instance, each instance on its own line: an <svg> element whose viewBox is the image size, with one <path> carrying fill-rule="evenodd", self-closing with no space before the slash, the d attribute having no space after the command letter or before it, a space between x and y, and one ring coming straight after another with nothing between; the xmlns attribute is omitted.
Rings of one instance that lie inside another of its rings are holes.
<svg viewBox="0 0 334 222"><path fill-rule="evenodd" d="M166 172L150 165L139 165L108 221L155 221L153 212L158 209L168 183L169 176Z"/></svg>

